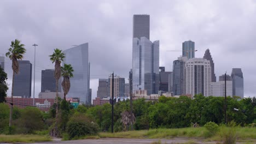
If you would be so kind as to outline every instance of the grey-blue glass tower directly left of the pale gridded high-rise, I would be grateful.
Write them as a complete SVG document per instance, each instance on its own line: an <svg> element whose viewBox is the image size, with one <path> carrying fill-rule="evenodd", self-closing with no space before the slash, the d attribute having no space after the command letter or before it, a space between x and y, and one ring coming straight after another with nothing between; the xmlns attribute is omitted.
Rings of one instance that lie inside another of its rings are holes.
<svg viewBox="0 0 256 144"><path fill-rule="evenodd" d="M179 57L173 61L172 92L173 95L185 94L185 62L187 57Z"/></svg>

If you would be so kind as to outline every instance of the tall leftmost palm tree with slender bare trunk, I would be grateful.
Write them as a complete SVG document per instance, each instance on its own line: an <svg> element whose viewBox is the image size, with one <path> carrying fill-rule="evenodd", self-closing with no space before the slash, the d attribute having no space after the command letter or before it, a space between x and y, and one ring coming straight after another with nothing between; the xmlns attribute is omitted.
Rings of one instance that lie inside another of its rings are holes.
<svg viewBox="0 0 256 144"><path fill-rule="evenodd" d="M26 49L24 48L24 44L20 44L18 39L15 41L11 41L10 48L8 52L5 53L6 57L9 57L12 61L11 67L13 68L13 82L11 83L11 109L10 109L10 118L9 118L9 127L11 127L11 121L13 120L13 84L14 84L14 73L19 73L19 63L18 59L23 58L24 53L26 53Z"/></svg>

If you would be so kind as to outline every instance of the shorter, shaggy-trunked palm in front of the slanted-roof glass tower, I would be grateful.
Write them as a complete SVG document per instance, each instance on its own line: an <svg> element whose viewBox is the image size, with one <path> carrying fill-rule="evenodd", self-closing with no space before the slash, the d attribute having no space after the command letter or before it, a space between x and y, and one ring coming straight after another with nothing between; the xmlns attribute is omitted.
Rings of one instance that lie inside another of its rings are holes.
<svg viewBox="0 0 256 144"><path fill-rule="evenodd" d="M70 81L69 78L73 77L73 68L71 64L64 64L64 67L61 67L61 74L63 76L63 81L61 83L62 89L64 91L64 100L66 100L66 95L70 89Z"/></svg>

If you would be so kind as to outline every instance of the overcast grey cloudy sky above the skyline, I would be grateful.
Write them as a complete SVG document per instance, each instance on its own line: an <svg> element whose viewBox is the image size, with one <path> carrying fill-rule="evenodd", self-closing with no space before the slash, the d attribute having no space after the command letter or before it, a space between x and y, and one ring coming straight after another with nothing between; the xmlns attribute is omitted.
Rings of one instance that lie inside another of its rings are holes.
<svg viewBox="0 0 256 144"><path fill-rule="evenodd" d="M196 57L210 49L218 77L242 68L245 97L256 96L255 1L0 1L0 55L11 40L26 45L24 60L36 53L36 97L41 70L54 68L53 49L89 43L92 95L98 78L112 71L129 76L132 65L132 16L150 15L150 40L160 40L160 65L172 71L185 40L195 41ZM11 86L11 62L5 59ZM32 85L33 89L33 85ZM32 92L33 93L33 92ZM10 91L8 91L10 95Z"/></svg>

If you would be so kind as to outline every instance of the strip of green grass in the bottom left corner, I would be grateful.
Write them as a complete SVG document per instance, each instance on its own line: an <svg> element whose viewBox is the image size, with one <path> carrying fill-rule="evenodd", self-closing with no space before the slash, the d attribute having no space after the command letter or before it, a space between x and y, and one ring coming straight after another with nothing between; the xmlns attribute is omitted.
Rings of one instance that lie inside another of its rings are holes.
<svg viewBox="0 0 256 144"><path fill-rule="evenodd" d="M42 135L0 135L0 142L42 142L51 141L49 136Z"/></svg>

